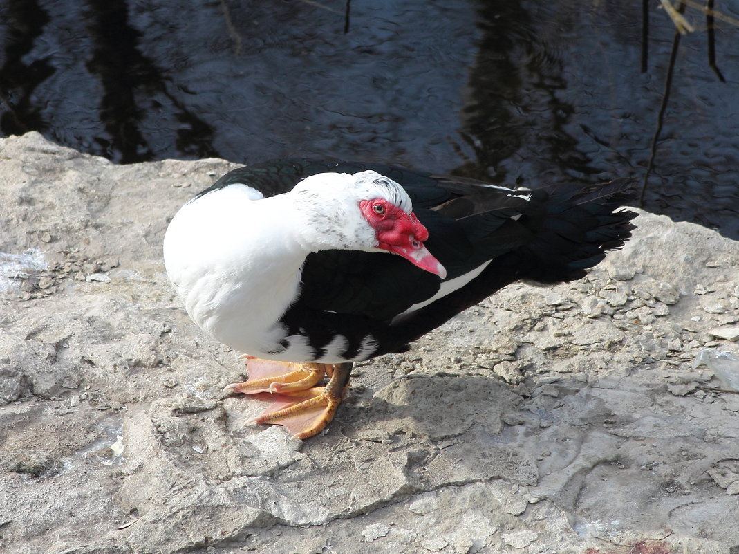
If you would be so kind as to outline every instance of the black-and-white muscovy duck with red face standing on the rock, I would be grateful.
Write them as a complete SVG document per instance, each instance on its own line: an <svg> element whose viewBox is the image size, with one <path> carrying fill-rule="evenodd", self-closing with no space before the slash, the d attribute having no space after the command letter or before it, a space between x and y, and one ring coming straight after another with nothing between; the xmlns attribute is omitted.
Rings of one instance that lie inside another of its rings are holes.
<svg viewBox="0 0 739 554"><path fill-rule="evenodd" d="M506 189L393 166L299 159L235 169L168 226L169 279L267 392L251 422L319 433L352 362L409 343L516 280L583 277L630 237L627 180ZM389 255L395 254L395 255ZM325 387L318 387L324 374Z"/></svg>

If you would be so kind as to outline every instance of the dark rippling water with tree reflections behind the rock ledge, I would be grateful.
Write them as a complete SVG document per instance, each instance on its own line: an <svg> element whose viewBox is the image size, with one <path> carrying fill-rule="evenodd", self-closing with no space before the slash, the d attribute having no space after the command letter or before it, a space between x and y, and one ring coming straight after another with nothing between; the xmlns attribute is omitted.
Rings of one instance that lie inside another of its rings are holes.
<svg viewBox="0 0 739 554"><path fill-rule="evenodd" d="M644 207L739 239L739 2L681 38ZM0 132L119 163L383 161L644 178L675 27L640 0L0 0Z"/></svg>

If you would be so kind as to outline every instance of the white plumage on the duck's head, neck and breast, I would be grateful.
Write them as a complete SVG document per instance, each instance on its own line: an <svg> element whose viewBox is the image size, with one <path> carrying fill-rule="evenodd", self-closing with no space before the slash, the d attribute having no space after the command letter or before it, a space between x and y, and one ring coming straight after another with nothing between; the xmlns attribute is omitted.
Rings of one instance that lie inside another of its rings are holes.
<svg viewBox="0 0 739 554"><path fill-rule="evenodd" d="M211 337L237 351L283 362L313 360L302 335L279 322L299 294L312 251L375 250L375 231L360 198L386 197L411 209L406 192L375 172L306 178L284 195L265 198L244 184L196 197L175 214L164 237L167 274L188 314ZM317 362L344 362L337 336ZM376 348L367 336L354 360Z"/></svg>

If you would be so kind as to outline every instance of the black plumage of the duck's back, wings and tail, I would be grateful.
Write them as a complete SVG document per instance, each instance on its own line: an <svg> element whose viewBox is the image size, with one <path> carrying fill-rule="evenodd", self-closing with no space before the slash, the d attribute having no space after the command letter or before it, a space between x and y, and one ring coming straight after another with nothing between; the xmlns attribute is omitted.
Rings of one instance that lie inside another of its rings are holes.
<svg viewBox="0 0 739 554"><path fill-rule="evenodd" d="M282 321L290 332L307 334L316 357L336 334L347 338L347 358L359 351L368 334L378 342L373 355L404 351L410 341L515 280L578 279L607 250L623 246L636 216L615 212L628 197L630 182L625 179L585 189L566 185L514 192L382 164L299 159L236 169L201 194L245 183L271 196L316 173L367 169L406 189L414 212L429 230L426 247L446 267L447 280L483 263L488 266L463 288L391 322L434 296L438 277L392 254L310 254L302 270L301 294Z"/></svg>

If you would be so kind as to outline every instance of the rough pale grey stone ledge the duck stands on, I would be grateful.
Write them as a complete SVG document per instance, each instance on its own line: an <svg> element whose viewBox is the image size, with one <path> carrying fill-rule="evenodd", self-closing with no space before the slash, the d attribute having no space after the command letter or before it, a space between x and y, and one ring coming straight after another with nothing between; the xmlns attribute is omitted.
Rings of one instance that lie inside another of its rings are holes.
<svg viewBox="0 0 739 554"><path fill-rule="evenodd" d="M358 365L296 442L244 425L238 353L164 273L168 219L233 167L0 139L1 552L736 550L739 401L692 361L738 351L737 243L641 214L585 279Z"/></svg>

